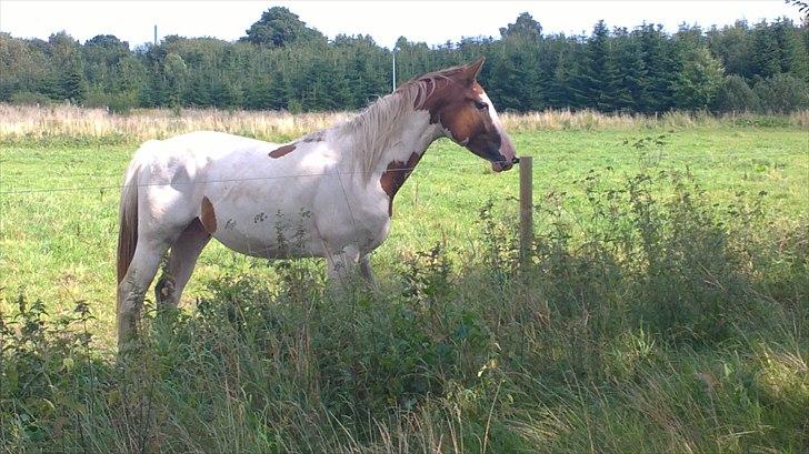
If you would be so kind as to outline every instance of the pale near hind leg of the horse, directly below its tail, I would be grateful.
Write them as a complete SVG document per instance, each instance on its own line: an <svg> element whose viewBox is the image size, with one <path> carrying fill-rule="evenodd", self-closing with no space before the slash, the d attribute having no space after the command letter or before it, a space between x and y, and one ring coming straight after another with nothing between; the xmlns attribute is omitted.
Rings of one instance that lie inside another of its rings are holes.
<svg viewBox="0 0 809 454"><path fill-rule="evenodd" d="M140 320L140 309L143 304L143 295L154 279L160 266L160 260L166 254L167 249L168 243L146 241L144 239L138 241L127 274L118 284L119 350L136 333Z"/></svg>

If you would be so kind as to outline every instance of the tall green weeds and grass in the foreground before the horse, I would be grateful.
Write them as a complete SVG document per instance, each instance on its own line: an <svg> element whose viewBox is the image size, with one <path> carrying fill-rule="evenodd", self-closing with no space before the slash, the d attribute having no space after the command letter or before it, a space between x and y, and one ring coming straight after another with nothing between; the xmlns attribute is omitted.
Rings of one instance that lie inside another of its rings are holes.
<svg viewBox="0 0 809 454"><path fill-rule="evenodd" d="M118 360L84 304L49 321L21 295L0 317L0 448L808 451L807 220L717 205L689 174L573 191L583 206L540 198L528 264L489 203L480 250L403 254L343 296L313 262L231 273L192 313L148 311Z"/></svg>

